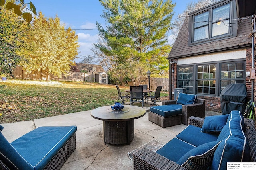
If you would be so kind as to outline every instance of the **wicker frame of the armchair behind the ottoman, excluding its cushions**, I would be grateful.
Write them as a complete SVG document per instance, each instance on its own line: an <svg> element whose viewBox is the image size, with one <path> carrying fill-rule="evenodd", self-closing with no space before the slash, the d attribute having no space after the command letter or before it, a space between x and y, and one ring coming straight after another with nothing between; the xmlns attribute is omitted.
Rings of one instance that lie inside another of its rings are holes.
<svg viewBox="0 0 256 170"><path fill-rule="evenodd" d="M162 105L176 104L177 100L162 101ZM182 105L181 123L188 125L188 118L190 116L205 117L205 100L197 99L195 104Z"/></svg>

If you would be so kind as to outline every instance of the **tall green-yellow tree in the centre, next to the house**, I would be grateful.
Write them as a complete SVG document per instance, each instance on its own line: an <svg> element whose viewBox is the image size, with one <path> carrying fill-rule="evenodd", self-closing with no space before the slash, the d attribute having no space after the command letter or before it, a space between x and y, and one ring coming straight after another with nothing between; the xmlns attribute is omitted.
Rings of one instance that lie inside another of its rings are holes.
<svg viewBox="0 0 256 170"><path fill-rule="evenodd" d="M110 71L124 70L132 63L146 64L154 74L168 75L167 33L171 29L174 4L171 0L99 0L107 26L97 23L99 43L94 55ZM146 74L146 72L144 73ZM133 72L133 77L138 77ZM132 76L130 77L132 79Z"/></svg>

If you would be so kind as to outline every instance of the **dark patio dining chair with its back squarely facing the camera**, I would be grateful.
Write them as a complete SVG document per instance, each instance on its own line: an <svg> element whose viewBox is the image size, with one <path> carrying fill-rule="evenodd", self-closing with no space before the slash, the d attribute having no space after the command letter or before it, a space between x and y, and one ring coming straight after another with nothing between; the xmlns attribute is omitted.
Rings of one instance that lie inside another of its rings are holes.
<svg viewBox="0 0 256 170"><path fill-rule="evenodd" d="M130 104L133 105L134 102L142 103L142 108L144 107L144 93L142 86L130 86Z"/></svg>

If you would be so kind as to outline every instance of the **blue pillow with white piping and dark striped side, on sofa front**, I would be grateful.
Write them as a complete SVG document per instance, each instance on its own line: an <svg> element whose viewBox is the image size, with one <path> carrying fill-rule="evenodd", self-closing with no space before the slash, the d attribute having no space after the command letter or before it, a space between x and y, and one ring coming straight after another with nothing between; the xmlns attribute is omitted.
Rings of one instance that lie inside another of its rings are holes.
<svg viewBox="0 0 256 170"><path fill-rule="evenodd" d="M177 164L189 170L204 170L208 168L212 163L214 152L220 142L204 143L191 149L178 160Z"/></svg>

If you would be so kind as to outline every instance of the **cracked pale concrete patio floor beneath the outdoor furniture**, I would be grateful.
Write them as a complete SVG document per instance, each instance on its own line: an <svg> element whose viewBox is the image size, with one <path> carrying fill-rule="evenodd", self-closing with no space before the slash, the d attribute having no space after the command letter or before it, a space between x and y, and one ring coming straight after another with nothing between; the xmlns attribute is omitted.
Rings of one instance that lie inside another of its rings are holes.
<svg viewBox="0 0 256 170"><path fill-rule="evenodd" d="M149 107L144 107L146 111ZM103 142L102 121L94 119L91 111L82 111L54 117L1 124L2 133L9 142L40 126L76 125L76 150L68 158L62 170L124 170L133 169L133 161L128 152L156 139L167 143L186 125L162 128L148 121L148 113L134 120L134 139L130 145L109 145ZM207 115L218 113L207 112Z"/></svg>

